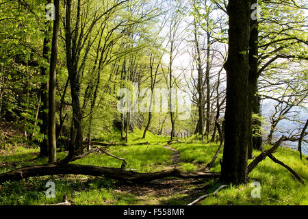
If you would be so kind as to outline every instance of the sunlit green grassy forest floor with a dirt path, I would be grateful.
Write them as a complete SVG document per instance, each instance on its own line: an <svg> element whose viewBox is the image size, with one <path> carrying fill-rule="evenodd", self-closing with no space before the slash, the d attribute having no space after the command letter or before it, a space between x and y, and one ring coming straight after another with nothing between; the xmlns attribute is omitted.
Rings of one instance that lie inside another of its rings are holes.
<svg viewBox="0 0 308 219"><path fill-rule="evenodd" d="M149 133L145 140L136 131L130 143L147 141L149 145L110 146L107 150L127 161L127 170L151 172L180 168L191 171L204 168L218 149L218 144L201 142L192 138L181 139L166 145L168 138ZM157 144L159 142L159 144ZM269 146L265 146L268 149ZM37 157L38 146L29 146L6 140L0 145L0 173L33 164L46 164L47 159ZM259 155L254 151L254 155ZM57 159L67 152L58 151ZM300 177L308 179L308 161L304 155L300 161L297 151L279 148L275 157L292 167ZM220 172L219 161L211 171ZM251 161L249 161L251 162ZM92 153L73 164L88 164L120 168L118 159ZM198 205L308 205L308 185L300 184L285 168L266 158L249 175L243 185L229 185L215 196L209 196ZM46 197L46 183L55 183L55 198ZM253 181L261 185L260 198L253 198ZM166 178L143 184L133 184L84 175L57 175L31 177L22 181L0 184L0 205L52 205L61 203L66 195L71 205L187 205L198 196L214 192L222 183L218 179Z"/></svg>

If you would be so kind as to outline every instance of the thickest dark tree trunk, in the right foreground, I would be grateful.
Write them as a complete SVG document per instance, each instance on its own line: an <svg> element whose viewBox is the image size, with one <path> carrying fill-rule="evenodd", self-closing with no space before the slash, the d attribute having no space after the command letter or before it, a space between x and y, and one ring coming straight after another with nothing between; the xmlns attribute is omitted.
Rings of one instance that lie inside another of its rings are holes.
<svg viewBox="0 0 308 219"><path fill-rule="evenodd" d="M227 105L224 127L222 181L246 183L248 147L248 47L251 1L229 0Z"/></svg>

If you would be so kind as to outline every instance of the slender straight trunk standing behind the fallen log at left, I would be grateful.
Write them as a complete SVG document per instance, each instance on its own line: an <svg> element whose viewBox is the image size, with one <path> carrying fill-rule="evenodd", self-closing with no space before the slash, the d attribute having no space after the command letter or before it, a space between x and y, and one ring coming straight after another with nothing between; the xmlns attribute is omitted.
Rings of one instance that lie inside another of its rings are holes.
<svg viewBox="0 0 308 219"><path fill-rule="evenodd" d="M53 21L53 40L51 44L51 60L49 71L49 110L48 110L48 144L49 144L49 159L48 162L57 161L57 144L55 140L55 83L57 73L57 42L59 38L59 23L60 23L60 0L54 1L55 5L55 20Z"/></svg>

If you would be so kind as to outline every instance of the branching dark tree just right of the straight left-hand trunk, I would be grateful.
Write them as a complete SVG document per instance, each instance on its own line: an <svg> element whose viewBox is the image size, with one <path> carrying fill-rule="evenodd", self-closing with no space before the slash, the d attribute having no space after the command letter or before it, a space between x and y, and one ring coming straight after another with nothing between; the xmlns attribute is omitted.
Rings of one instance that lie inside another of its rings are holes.
<svg viewBox="0 0 308 219"><path fill-rule="evenodd" d="M81 69L84 67L80 64L81 52L83 51L86 42L89 42L92 31L97 25L97 23L103 18L108 18L110 12L114 10L119 10L120 5L123 5L129 0L115 1L113 3L107 3L107 8L100 13L101 8L94 8L93 16L86 14L85 19L81 13L82 6L81 0L77 1L77 13L74 18L72 18L72 0L66 1L66 19L65 19L65 43L66 43L66 66L68 69L68 78L70 80L70 93L72 97L72 107L73 107L73 127L70 133L70 150L67 159L73 157L75 151L77 153L82 152L82 141L83 141L83 131L81 126L82 111L80 105L80 89L81 89ZM89 2L86 3L89 6ZM87 8L87 10L90 10ZM81 18L82 17L82 18ZM75 21L75 28L74 26ZM88 24L88 25L87 25ZM91 41L92 42L92 41ZM92 44L90 44L92 46ZM89 50L86 50L83 56L82 63L86 62L89 54Z"/></svg>

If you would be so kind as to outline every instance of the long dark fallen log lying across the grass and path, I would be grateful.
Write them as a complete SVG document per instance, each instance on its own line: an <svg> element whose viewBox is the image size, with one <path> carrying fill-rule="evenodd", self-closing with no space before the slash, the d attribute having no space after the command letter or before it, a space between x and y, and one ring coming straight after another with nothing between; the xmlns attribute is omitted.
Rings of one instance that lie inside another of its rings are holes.
<svg viewBox="0 0 308 219"><path fill-rule="evenodd" d="M204 172L203 170L194 172L181 172L178 169L162 170L158 172L134 172L122 170L121 168L110 168L102 166L90 166L81 164L44 164L26 166L10 172L0 174L0 183L5 181L18 181L29 177L47 176L47 175L89 175L94 177L108 177L120 181L131 181L135 183L144 183L155 179L166 177L178 177L184 179L213 179L219 178L219 172Z"/></svg>

